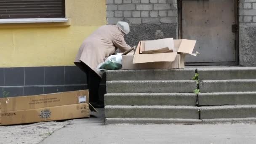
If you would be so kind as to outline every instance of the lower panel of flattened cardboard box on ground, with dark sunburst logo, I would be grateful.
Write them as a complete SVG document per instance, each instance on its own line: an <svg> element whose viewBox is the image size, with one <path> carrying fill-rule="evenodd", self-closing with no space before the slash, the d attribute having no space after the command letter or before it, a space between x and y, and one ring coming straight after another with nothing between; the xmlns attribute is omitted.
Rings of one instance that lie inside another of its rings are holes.
<svg viewBox="0 0 256 144"><path fill-rule="evenodd" d="M88 103L81 103L57 107L1 112L0 125L13 125L90 117L88 107Z"/></svg>

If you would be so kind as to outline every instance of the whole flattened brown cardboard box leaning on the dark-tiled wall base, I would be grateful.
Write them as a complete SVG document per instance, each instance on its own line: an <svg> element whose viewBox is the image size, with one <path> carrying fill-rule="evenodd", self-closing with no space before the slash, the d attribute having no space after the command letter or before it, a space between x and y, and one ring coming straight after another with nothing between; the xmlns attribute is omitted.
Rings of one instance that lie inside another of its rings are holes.
<svg viewBox="0 0 256 144"><path fill-rule="evenodd" d="M0 125L89 117L88 100L88 90L1 98Z"/></svg>

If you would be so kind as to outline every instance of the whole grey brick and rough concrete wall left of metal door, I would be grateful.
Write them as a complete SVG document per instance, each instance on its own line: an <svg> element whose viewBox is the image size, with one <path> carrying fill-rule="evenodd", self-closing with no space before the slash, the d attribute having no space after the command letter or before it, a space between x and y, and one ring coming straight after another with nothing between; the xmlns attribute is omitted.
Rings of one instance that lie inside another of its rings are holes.
<svg viewBox="0 0 256 144"><path fill-rule="evenodd" d="M130 24L125 40L131 46L139 40L177 37L176 0L106 0L106 5L107 24Z"/></svg>

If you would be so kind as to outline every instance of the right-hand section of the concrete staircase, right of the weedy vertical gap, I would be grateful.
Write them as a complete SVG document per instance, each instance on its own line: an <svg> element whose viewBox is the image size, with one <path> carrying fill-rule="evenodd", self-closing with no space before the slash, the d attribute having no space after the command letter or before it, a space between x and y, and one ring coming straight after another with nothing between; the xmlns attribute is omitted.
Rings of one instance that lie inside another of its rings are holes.
<svg viewBox="0 0 256 144"><path fill-rule="evenodd" d="M256 121L256 67L199 68L200 119Z"/></svg>

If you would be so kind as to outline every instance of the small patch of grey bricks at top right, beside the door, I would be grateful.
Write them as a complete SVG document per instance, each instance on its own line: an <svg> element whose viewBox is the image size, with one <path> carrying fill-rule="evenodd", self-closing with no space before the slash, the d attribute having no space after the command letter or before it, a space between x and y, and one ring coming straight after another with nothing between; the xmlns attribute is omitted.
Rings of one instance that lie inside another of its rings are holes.
<svg viewBox="0 0 256 144"><path fill-rule="evenodd" d="M239 22L256 23L256 0L240 0Z"/></svg>

